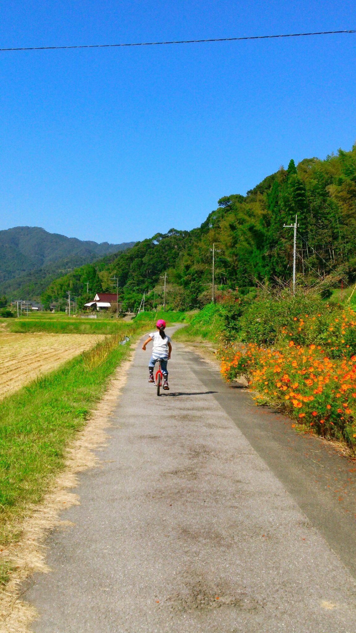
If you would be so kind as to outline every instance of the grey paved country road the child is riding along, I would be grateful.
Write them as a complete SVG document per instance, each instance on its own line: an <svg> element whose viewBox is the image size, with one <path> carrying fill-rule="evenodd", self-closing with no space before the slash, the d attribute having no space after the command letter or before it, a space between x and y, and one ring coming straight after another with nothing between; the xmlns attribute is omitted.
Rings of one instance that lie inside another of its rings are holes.
<svg viewBox="0 0 356 633"><path fill-rule="evenodd" d="M157 398L148 359L139 346L101 468L25 592L33 630L353 633L352 465L181 344Z"/></svg>

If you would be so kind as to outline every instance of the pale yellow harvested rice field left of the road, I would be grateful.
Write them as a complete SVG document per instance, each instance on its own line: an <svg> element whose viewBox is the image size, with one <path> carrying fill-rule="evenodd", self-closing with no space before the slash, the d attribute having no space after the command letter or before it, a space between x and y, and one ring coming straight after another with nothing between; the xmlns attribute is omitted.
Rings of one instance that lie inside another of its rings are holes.
<svg viewBox="0 0 356 633"><path fill-rule="evenodd" d="M0 399L92 348L100 334L0 333Z"/></svg>

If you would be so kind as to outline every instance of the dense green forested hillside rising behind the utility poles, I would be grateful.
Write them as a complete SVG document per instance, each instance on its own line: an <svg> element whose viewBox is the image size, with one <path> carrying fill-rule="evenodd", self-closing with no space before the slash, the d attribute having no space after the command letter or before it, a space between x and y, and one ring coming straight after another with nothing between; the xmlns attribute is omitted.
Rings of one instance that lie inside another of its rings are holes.
<svg viewBox="0 0 356 633"><path fill-rule="evenodd" d="M293 268L293 229L298 215L298 284L324 294L356 276L356 145L326 160L289 162L267 176L246 196L222 197L200 228L172 229L138 242L110 260L105 258L55 280L43 295L46 303L65 297L69 288L84 303L85 283L94 291L111 289L119 279L126 309L162 303L167 271L168 302L175 309L196 308L211 297L213 242L217 290L239 287L246 294L259 284L284 287Z"/></svg>

